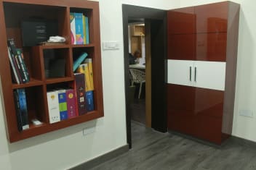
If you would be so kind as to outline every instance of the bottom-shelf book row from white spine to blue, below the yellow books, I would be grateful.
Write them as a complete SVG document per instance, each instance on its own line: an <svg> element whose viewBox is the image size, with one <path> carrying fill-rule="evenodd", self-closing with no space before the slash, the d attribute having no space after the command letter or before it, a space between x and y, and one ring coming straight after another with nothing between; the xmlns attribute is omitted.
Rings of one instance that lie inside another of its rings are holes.
<svg viewBox="0 0 256 170"><path fill-rule="evenodd" d="M93 91L85 91L83 73L74 74L75 80L69 89L47 92L49 123L60 122L93 111Z"/></svg>

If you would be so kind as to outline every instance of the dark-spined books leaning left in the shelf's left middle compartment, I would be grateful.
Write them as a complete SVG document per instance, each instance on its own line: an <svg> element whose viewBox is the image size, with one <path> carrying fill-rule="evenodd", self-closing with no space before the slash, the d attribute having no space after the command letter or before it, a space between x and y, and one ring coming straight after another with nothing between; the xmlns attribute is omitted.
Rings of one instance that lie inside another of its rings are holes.
<svg viewBox="0 0 256 170"><path fill-rule="evenodd" d="M12 67L12 80L17 84L29 82L28 68L25 65L23 52L20 48L16 48L15 41L8 39L9 61Z"/></svg>

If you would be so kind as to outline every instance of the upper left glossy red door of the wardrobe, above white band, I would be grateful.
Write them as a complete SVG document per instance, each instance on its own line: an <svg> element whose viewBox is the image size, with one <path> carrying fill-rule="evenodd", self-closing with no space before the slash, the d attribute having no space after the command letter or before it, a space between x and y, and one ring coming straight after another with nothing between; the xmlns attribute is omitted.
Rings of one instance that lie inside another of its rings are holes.
<svg viewBox="0 0 256 170"><path fill-rule="evenodd" d="M167 13L168 59L195 60L196 15L194 7Z"/></svg>

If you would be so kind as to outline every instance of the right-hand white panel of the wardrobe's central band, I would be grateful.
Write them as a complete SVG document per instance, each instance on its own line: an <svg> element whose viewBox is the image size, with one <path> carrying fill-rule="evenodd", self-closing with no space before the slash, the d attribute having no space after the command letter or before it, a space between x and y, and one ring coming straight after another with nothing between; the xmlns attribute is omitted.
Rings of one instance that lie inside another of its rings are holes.
<svg viewBox="0 0 256 170"><path fill-rule="evenodd" d="M225 90L225 62L195 61L196 87Z"/></svg>

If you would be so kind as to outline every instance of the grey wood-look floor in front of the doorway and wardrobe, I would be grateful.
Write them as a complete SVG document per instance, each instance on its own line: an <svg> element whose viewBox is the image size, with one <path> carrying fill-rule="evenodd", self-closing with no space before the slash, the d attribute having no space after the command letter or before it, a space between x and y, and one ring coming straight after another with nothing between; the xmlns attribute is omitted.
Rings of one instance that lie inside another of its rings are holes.
<svg viewBox="0 0 256 170"><path fill-rule="evenodd" d="M132 123L132 150L94 169L256 169L256 147L228 140L221 148Z"/></svg>

